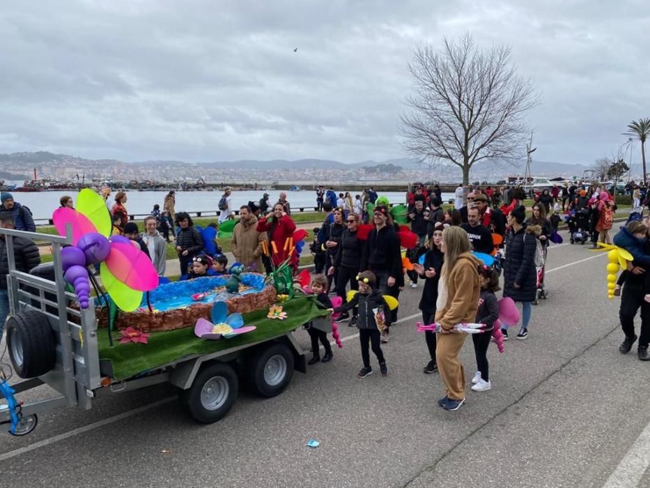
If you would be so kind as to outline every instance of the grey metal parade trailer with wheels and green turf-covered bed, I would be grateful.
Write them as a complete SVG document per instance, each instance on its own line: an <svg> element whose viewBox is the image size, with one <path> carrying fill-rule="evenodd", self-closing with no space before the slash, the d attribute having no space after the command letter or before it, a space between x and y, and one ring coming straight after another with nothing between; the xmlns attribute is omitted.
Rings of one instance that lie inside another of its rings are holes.
<svg viewBox="0 0 650 488"><path fill-rule="evenodd" d="M6 238L9 258L7 352L14 374L21 378L9 384L0 377L6 397L0 403L0 423L10 424L10 434L16 436L32 432L38 415L52 409L91 409L100 397L157 383L176 386L180 405L196 421L217 422L235 403L240 380L257 395L274 397L286 388L294 370L306 372L306 351L293 331L327 315L310 297L296 298L286 304L295 311L293 320L273 321L232 340L199 340L191 328L179 329L173 331L176 335L171 342L186 346L178 352L163 347L162 353L159 348L153 354L146 345L132 344L134 354L129 356L123 353L126 348L111 349L107 330L98 328L95 300L91 298L88 308L80 309L75 294L66 291L61 247L71 243L69 237L11 229L0 229L0 234ZM70 229L67 234L72 234ZM49 242L53 264L31 273L17 270L13 259L16 237ZM157 334L169 333L153 333ZM42 384L56 394L20 402L22 392Z"/></svg>

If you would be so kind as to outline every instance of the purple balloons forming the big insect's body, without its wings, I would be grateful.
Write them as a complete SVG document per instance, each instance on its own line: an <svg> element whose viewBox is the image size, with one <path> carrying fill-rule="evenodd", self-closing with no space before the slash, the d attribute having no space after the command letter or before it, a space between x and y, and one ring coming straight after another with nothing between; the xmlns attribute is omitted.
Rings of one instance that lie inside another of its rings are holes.
<svg viewBox="0 0 650 488"><path fill-rule="evenodd" d="M128 241L126 238L123 239ZM75 289L77 298L79 298L79 307L88 308L88 299L90 298L91 285L88 282L86 266L105 261L110 251L109 240L97 232L85 234L79 238L77 245L64 247L61 250L63 277Z"/></svg>

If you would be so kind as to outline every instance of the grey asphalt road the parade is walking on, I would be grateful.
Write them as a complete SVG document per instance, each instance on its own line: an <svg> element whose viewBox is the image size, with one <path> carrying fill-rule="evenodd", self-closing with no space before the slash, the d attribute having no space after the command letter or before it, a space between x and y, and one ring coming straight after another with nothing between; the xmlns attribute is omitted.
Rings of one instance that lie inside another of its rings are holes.
<svg viewBox="0 0 650 488"><path fill-rule="evenodd" d="M385 378L356 378L356 330L343 325L349 339L331 363L296 373L273 399L241 392L214 425L186 418L165 386L41 415L29 436L0 436L1 485L650 486L650 363L617 350L605 264L586 246L553 247L549 298L533 308L528 340L511 339L504 354L490 346L493 389L468 388L457 412L437 404L440 376L422 373L421 288L406 289L400 317L417 318L392 329ZM307 348L306 333L296 335ZM461 356L469 380L470 341Z"/></svg>

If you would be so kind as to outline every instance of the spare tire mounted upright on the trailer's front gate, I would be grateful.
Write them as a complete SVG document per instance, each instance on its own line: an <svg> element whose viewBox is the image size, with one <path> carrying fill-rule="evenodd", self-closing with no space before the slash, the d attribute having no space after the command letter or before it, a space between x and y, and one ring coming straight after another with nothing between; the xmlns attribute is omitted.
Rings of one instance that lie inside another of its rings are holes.
<svg viewBox="0 0 650 488"><path fill-rule="evenodd" d="M26 310L10 317L7 346L13 370L21 378L45 374L56 363L54 332L45 314L37 310Z"/></svg>

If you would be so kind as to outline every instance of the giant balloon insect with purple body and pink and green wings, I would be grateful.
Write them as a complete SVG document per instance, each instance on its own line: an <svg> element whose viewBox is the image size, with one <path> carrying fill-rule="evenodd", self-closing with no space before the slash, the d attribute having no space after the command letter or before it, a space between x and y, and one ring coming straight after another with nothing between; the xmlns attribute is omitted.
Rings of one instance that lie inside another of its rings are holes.
<svg viewBox="0 0 650 488"><path fill-rule="evenodd" d="M65 235L66 224L72 225L72 246L61 250L61 261L65 280L72 284L79 298L79 307L88 307L90 285L86 266L90 264L100 264L102 284L115 305L125 312L137 310L143 292L157 287L153 263L137 243L110 236L111 217L104 199L97 193L84 188L77 197L77 210L57 208L52 220L61 236ZM93 285L97 287L94 279Z"/></svg>

